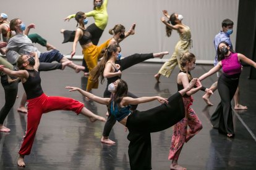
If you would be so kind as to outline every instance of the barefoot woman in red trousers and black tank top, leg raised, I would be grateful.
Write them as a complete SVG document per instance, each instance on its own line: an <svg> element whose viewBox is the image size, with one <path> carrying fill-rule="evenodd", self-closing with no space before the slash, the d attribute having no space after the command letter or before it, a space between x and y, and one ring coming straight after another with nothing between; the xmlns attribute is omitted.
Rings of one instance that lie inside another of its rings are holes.
<svg viewBox="0 0 256 170"><path fill-rule="evenodd" d="M77 115L82 115L90 118L90 121L106 121L105 118L93 114L90 110L84 107L83 103L67 97L47 96L41 88L41 78L38 73L40 65L38 56L33 53L34 57L22 55L17 62L19 71L12 71L0 65L0 70L10 76L16 76L21 79L28 101L28 119L27 131L23 137L22 144L19 150L18 166L25 166L24 156L29 155L32 149L33 140L35 139L36 130L40 123L43 113L48 113L54 110L72 110Z"/></svg>

